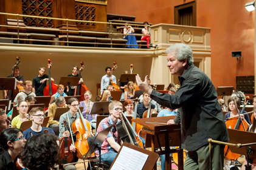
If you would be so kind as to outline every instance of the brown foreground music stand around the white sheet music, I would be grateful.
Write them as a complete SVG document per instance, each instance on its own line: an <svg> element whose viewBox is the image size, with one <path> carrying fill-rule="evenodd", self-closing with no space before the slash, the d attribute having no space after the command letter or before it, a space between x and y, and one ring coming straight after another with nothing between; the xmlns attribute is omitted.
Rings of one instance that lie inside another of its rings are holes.
<svg viewBox="0 0 256 170"><path fill-rule="evenodd" d="M145 165L143 166L143 170L150 170L150 169L154 169L154 167L156 166L156 161L159 157L158 154L154 153L154 152L151 152L151 151L148 151L147 149L142 149L138 146L135 146L133 144L130 144L130 143L123 143L121 148L119 149L119 152L118 154L116 155L116 158L114 159L114 161L112 162L112 165L111 167L109 168L111 170L112 166L116 163L116 160L117 160L117 157L119 157L119 154L120 152L122 151L122 148L123 146L126 146L130 149L134 149L136 151L139 151L139 152L142 152L144 154L147 154L148 155L148 158L147 158L147 161L145 162Z"/></svg>

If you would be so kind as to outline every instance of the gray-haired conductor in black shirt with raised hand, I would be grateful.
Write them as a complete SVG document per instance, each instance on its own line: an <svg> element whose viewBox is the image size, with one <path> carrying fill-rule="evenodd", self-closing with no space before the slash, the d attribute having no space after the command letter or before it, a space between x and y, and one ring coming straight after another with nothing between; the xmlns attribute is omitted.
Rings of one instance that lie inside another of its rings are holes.
<svg viewBox="0 0 256 170"><path fill-rule="evenodd" d="M168 124L181 124L182 148L187 149L184 169L223 169L224 145L213 144L212 165L207 138L228 141L223 112L218 103L212 81L193 64L192 49L186 44L174 44L166 50L167 67L172 75L179 76L181 87L176 94L162 94L136 76L140 90L150 94L157 103L171 109L179 108L175 120Z"/></svg>

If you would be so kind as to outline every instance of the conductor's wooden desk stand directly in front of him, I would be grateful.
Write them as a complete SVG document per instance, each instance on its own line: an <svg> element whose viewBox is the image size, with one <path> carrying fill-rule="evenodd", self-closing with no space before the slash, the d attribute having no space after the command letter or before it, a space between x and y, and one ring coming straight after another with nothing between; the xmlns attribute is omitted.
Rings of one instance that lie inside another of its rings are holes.
<svg viewBox="0 0 256 170"><path fill-rule="evenodd" d="M178 152L178 169L183 170L183 149L181 149L181 126L176 124L166 125L170 117L151 117L132 120L144 126L147 132L145 147L151 147L151 151L165 146L165 151L157 151L159 155L165 154L165 168L171 169L170 153ZM157 124L159 123L159 124ZM179 146L178 149L170 149L170 146Z"/></svg>

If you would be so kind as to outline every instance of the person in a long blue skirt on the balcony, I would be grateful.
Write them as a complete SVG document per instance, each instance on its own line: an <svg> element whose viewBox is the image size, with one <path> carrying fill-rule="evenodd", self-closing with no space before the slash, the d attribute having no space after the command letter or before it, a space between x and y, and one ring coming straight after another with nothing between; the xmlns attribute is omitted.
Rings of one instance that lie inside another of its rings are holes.
<svg viewBox="0 0 256 170"><path fill-rule="evenodd" d="M128 25L126 23L125 27L123 28L123 39L127 39L127 42L126 42L127 48L137 49L139 48L139 46L135 46L137 45L137 40L136 40L136 36L134 36L133 34L134 34L133 27L131 27L131 25Z"/></svg>

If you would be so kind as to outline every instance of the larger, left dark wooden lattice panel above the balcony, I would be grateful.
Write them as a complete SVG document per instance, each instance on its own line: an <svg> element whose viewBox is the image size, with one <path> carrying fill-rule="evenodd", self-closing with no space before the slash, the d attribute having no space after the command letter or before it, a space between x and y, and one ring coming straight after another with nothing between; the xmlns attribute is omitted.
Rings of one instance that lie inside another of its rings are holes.
<svg viewBox="0 0 256 170"><path fill-rule="evenodd" d="M22 0L24 15L52 17L53 0ZM24 23L33 27L54 27L52 19L23 17Z"/></svg>

